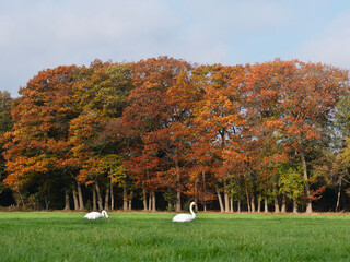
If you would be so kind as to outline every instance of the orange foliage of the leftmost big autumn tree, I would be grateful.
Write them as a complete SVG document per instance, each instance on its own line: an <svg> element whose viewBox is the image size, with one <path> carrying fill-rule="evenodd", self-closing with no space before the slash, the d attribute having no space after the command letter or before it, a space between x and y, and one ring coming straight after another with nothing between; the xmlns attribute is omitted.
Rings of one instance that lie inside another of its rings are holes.
<svg viewBox="0 0 350 262"><path fill-rule="evenodd" d="M5 134L4 145L9 172L4 182L20 194L34 176L58 174L65 160L69 122L77 116L72 106L77 70L69 66L40 71L21 91L12 110L13 131ZM62 176L61 181L67 180L70 178ZM67 184L63 182L62 187Z"/></svg>

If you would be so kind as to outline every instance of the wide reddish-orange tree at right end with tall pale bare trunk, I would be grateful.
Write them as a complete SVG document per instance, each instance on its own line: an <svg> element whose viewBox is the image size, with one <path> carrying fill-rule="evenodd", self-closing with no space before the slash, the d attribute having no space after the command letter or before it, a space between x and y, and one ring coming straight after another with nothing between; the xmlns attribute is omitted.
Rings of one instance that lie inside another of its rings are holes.
<svg viewBox="0 0 350 262"><path fill-rule="evenodd" d="M261 135L256 138L279 136L276 142L283 144L281 154L300 157L305 181L306 212L311 213L313 195L307 160L312 159L312 152L327 138L327 127L334 117L335 105L348 90L347 72L298 60L275 60L255 67L260 68L260 72L267 76L257 81L253 78L253 86L261 86L259 88L262 91L252 90L252 95L258 96L255 108L266 109L258 109L264 114L262 118L259 117L262 122L258 119L258 124L254 124L254 121L253 124L255 129L275 126L272 132L266 134L259 131Z"/></svg>

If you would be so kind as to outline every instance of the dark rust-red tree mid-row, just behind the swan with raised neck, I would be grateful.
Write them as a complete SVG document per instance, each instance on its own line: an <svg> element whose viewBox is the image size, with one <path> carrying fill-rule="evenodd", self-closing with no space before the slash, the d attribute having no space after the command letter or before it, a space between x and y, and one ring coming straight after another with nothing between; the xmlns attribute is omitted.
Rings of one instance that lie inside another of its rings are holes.
<svg viewBox="0 0 350 262"><path fill-rule="evenodd" d="M155 201L158 184L166 183L166 179L172 180L177 193L176 211L180 210L182 202L183 144L180 136L171 130L172 124L183 117L183 110L174 106L176 104L167 92L176 84L176 76L189 69L187 62L167 57L135 63L131 70L135 90L128 98L130 107L126 108L122 117L122 124L129 129L129 134L140 142L130 147L131 157L143 157L143 163L162 163L162 166L153 165L151 168L148 165L143 169L131 167L130 171L139 174L139 181L151 190L152 201ZM154 160L156 158L159 160ZM164 178L162 181L159 175Z"/></svg>

